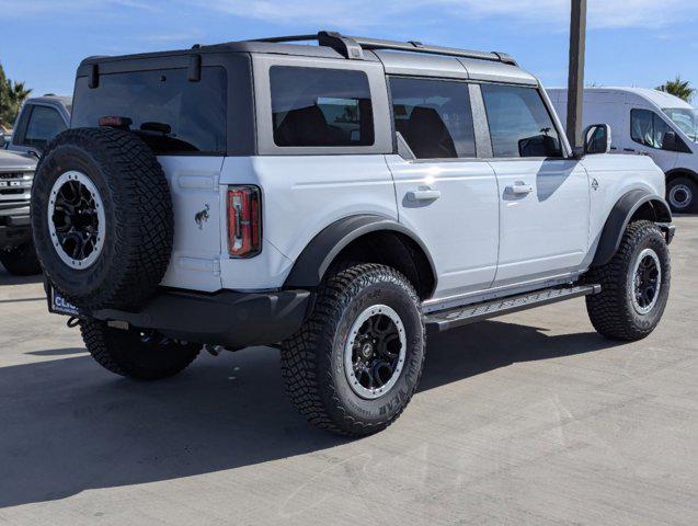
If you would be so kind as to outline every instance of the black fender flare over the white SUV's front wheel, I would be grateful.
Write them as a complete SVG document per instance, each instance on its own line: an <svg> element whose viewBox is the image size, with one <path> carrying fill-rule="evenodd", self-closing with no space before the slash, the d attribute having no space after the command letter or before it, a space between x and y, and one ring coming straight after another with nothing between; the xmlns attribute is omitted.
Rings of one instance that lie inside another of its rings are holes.
<svg viewBox="0 0 698 526"><path fill-rule="evenodd" d="M646 190L631 190L620 197L620 199L618 199L611 208L608 219L606 219L606 224L604 225L604 229L602 230L602 236L598 241L598 247L596 248L596 254L592 261L592 266L605 265L610 261L614 254L618 251L618 247L620 247L622 235L626 231L626 227L630 222L630 219L632 219L634 213L646 203L650 203L654 209L657 224L666 225L672 222L672 210L663 197L660 197ZM671 241L668 236L667 241Z"/></svg>

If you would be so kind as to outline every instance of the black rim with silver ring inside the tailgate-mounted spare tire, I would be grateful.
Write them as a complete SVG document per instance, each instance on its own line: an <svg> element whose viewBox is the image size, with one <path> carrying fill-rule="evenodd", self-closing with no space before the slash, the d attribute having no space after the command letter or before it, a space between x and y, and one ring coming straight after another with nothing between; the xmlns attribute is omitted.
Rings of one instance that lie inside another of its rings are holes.
<svg viewBox="0 0 698 526"><path fill-rule="evenodd" d="M71 170L60 175L48 199L48 230L56 253L70 268L89 268L104 247L104 203L92 180Z"/></svg>

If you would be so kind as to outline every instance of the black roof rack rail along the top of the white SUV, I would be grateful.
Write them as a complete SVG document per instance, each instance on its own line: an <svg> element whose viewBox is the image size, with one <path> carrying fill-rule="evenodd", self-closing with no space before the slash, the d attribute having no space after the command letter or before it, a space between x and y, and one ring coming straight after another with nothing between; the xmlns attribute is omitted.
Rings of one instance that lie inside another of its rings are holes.
<svg viewBox="0 0 698 526"><path fill-rule="evenodd" d="M397 52L425 53L430 55L446 55L449 57L474 58L517 66L516 60L505 53L471 52L455 47L428 46L421 42L381 41L378 38L364 38L362 36L346 36L332 31L321 31L316 35L273 36L270 38L255 38L250 42L307 42L317 41L320 46L328 46L341 53L346 58L361 60L364 58L364 49L391 49Z"/></svg>

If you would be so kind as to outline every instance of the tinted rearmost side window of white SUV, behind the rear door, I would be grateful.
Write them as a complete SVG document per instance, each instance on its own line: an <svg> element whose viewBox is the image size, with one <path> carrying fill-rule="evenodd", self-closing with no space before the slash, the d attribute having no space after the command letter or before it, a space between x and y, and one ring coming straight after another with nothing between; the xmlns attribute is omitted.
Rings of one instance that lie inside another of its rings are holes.
<svg viewBox="0 0 698 526"><path fill-rule="evenodd" d="M370 146L374 115L363 71L274 66L276 146Z"/></svg>

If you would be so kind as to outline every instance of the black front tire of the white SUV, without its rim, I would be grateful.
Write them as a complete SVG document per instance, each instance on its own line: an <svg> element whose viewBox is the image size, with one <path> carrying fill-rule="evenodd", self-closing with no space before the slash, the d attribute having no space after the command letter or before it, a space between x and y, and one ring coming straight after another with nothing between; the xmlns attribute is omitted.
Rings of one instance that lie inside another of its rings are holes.
<svg viewBox="0 0 698 526"><path fill-rule="evenodd" d="M644 249L652 249L659 256L662 276L654 307L641 313L632 300L633 268ZM602 286L600 294L586 297L586 309L594 329L611 340L632 342L648 336L664 313L671 278L668 247L660 228L646 220L631 222L616 255L587 274L588 283Z"/></svg>

